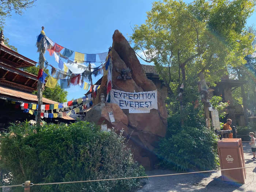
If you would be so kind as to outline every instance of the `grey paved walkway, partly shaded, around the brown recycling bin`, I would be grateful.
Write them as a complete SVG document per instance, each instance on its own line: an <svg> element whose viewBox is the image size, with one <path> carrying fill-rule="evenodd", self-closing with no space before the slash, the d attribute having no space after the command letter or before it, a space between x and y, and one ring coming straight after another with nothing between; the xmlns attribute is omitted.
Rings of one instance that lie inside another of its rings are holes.
<svg viewBox="0 0 256 192"><path fill-rule="evenodd" d="M245 166L256 166L256 160L252 160L252 151L248 143L243 144ZM176 173L170 170L152 170L147 175L159 175ZM145 180L146 185L138 192L256 192L256 167L246 169L245 184L223 182L221 172L195 173L178 176L150 177Z"/></svg>

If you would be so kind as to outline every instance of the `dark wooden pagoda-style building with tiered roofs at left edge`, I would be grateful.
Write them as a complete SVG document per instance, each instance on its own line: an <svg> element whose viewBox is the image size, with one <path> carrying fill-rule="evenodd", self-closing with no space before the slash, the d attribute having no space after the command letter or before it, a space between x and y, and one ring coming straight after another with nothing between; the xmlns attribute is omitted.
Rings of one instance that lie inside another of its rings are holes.
<svg viewBox="0 0 256 192"><path fill-rule="evenodd" d="M35 116L23 113L21 102L37 103L37 76L22 71L20 68L35 66L37 62L15 52L4 44L3 31L0 34L0 130L15 121L33 120ZM47 98L44 104L58 103ZM44 119L45 121L49 121ZM61 121L72 121L63 117Z"/></svg>

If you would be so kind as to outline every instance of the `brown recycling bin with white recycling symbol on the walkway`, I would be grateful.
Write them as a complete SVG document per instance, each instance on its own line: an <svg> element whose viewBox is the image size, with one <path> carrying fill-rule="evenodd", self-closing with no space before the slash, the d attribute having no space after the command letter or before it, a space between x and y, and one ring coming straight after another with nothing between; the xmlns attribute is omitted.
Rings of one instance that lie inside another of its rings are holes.
<svg viewBox="0 0 256 192"><path fill-rule="evenodd" d="M218 141L218 154L221 169L245 167L241 141L238 139L225 139ZM230 182L245 182L245 169L221 171L222 180Z"/></svg>

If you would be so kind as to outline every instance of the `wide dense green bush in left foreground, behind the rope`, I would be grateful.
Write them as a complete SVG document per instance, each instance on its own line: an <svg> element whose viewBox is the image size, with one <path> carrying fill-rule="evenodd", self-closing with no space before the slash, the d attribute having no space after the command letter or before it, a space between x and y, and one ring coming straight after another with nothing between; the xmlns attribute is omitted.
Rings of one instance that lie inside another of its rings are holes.
<svg viewBox="0 0 256 192"><path fill-rule="evenodd" d="M102 132L94 124L45 124L40 129L27 123L11 125L1 135L0 166L5 184L96 180L144 176L144 168L133 161L124 138ZM5 175L4 175L5 176ZM129 191L139 179L33 186L34 191ZM21 187L12 188L23 191Z"/></svg>

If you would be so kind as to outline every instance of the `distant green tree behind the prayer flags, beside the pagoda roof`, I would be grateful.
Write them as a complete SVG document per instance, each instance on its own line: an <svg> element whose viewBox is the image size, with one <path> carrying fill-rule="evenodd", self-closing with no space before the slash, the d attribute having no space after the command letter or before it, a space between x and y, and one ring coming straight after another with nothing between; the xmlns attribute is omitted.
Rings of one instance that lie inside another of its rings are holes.
<svg viewBox="0 0 256 192"><path fill-rule="evenodd" d="M36 67L34 67L34 66L26 67L26 68L22 68L22 70L26 71L26 72L29 72L31 74L37 75L38 71L39 71L39 67L38 66L36 66ZM46 69L44 72L49 75L49 70L48 69ZM34 91L33 93L37 94L37 91ZM64 91L64 89L61 89L59 84L57 84L54 89L50 89L48 87L45 87L45 90L43 92L43 97L51 99L51 100L59 102L59 103L66 102L67 101L67 95L68 95L68 92Z"/></svg>

